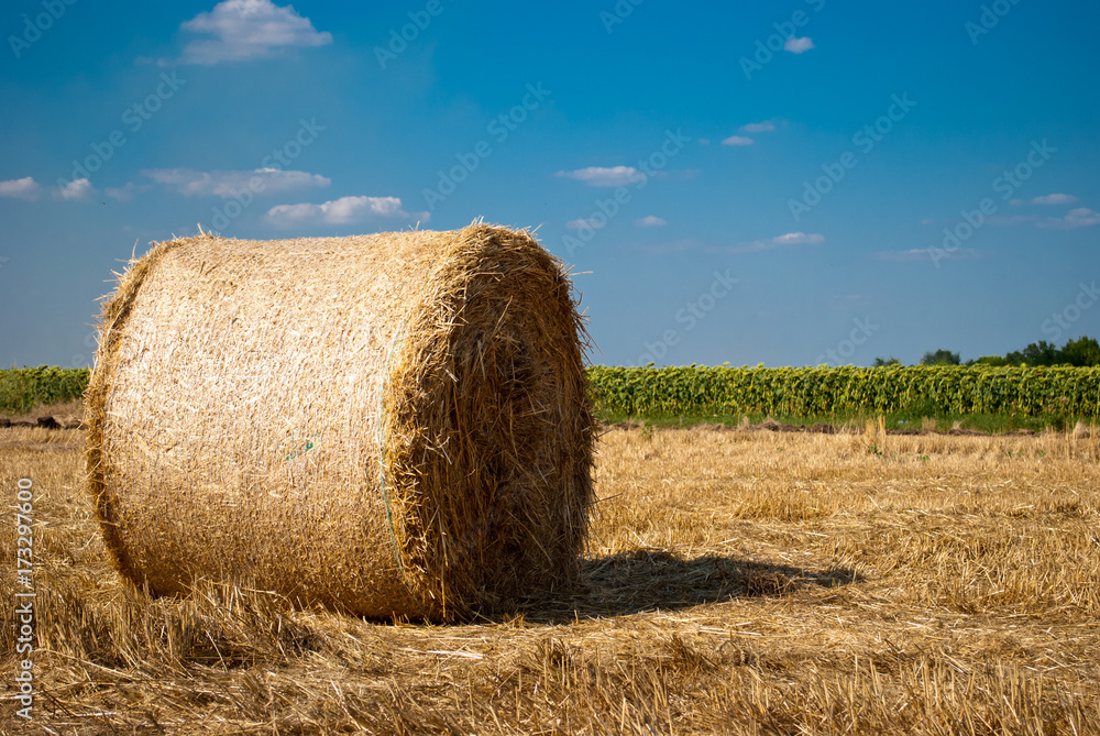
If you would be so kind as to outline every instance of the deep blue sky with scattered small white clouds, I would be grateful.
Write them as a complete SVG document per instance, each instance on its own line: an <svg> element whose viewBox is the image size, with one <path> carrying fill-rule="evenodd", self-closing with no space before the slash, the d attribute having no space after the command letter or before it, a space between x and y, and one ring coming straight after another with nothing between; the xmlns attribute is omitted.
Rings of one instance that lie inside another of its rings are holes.
<svg viewBox="0 0 1100 736"><path fill-rule="evenodd" d="M595 363L1096 337L1098 21L1058 0L13 0L0 364L87 365L112 271L199 223L537 228Z"/></svg>

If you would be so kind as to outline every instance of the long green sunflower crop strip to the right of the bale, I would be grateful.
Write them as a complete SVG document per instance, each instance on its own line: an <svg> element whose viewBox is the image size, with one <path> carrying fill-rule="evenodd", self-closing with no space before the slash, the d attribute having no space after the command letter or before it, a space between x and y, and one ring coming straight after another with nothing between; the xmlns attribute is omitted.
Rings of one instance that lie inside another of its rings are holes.
<svg viewBox="0 0 1100 736"><path fill-rule="evenodd" d="M1100 414L1100 367L595 365L588 377L596 410L604 416Z"/></svg>

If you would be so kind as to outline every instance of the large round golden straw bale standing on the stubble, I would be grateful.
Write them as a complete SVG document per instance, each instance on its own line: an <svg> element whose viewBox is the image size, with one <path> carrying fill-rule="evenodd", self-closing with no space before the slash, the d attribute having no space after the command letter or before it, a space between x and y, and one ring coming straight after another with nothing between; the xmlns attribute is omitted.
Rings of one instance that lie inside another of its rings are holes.
<svg viewBox="0 0 1100 736"><path fill-rule="evenodd" d="M114 564L369 617L562 592L593 499L585 348L526 231L160 243L103 307L85 397Z"/></svg>

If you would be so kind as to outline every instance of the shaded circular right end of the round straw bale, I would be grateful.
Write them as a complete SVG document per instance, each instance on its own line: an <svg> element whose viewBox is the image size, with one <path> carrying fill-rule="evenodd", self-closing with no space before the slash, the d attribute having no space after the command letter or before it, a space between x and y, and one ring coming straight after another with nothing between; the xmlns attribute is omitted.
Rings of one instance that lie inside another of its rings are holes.
<svg viewBox="0 0 1100 736"><path fill-rule="evenodd" d="M407 325L386 391L386 475L411 580L433 606L572 584L592 497L583 334L527 233L470 228Z"/></svg>

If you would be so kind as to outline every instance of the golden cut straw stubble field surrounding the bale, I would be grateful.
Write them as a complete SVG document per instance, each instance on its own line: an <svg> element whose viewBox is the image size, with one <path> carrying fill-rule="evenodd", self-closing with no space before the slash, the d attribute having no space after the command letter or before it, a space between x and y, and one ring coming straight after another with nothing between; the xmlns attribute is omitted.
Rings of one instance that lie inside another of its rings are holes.
<svg viewBox="0 0 1100 736"><path fill-rule="evenodd" d="M34 722L9 700L6 733L1100 733L1094 431L612 429L584 587L449 626L150 600L108 562L81 431L0 432L40 565Z"/></svg>

